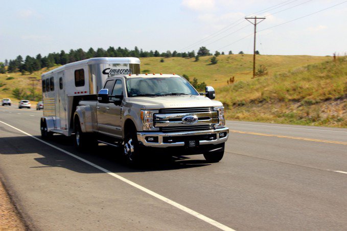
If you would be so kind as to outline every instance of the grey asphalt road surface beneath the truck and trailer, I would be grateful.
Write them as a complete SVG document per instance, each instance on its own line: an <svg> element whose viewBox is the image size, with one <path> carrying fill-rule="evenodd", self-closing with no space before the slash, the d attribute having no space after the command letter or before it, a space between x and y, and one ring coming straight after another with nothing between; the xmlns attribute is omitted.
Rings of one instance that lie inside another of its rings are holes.
<svg viewBox="0 0 347 231"><path fill-rule="evenodd" d="M228 121L224 158L79 152L42 111L0 107L0 173L38 230L346 230L347 129Z"/></svg>

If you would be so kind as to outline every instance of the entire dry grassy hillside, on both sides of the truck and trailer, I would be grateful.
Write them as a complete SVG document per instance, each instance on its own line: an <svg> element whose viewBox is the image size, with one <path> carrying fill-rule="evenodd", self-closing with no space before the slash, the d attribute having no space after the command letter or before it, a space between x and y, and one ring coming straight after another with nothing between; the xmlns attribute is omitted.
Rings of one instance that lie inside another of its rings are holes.
<svg viewBox="0 0 347 231"><path fill-rule="evenodd" d="M251 79L252 55L221 55L211 65L210 57L142 58L141 70L149 73L187 74L191 80L215 87L217 99L226 107L228 119L347 127L345 58L334 63L332 57L257 56L268 74ZM54 67L55 68L55 67ZM51 68L52 69L52 68ZM30 92L29 77L36 78L40 91L42 69L33 74L0 74L0 98L13 98L16 87ZM235 83L227 80L235 76ZM12 80L6 80L12 77Z"/></svg>

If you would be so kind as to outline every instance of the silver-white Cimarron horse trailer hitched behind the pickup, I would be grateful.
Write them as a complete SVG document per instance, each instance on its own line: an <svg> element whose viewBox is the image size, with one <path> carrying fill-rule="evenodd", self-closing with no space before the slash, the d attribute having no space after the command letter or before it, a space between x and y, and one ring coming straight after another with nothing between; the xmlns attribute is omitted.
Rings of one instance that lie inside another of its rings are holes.
<svg viewBox="0 0 347 231"><path fill-rule="evenodd" d="M80 100L97 100L99 90L110 76L138 73L137 58L92 58L43 73L41 133L71 136L73 115Z"/></svg>

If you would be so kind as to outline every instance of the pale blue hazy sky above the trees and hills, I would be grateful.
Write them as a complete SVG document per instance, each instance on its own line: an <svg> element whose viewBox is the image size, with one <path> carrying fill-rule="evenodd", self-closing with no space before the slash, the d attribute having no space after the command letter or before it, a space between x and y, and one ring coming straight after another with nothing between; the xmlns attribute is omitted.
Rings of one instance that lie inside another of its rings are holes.
<svg viewBox="0 0 347 231"><path fill-rule="evenodd" d="M2 1L0 61L17 55L45 56L62 49L109 46L159 52L197 51L206 46L211 52L243 50L251 54L253 25L243 19L245 16L266 16L258 25L261 54L325 56L347 52L347 1L343 0L31 0Z"/></svg>

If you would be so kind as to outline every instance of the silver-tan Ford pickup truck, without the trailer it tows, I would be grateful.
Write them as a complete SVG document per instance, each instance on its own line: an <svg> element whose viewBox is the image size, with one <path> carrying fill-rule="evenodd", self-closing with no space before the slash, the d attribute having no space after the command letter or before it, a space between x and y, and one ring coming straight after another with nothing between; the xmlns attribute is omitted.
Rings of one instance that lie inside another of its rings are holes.
<svg viewBox="0 0 347 231"><path fill-rule="evenodd" d="M75 143L121 146L129 162L148 151L163 155L203 154L223 158L229 130L215 91L198 93L176 74L129 74L109 77L98 100L81 100L74 113Z"/></svg>

